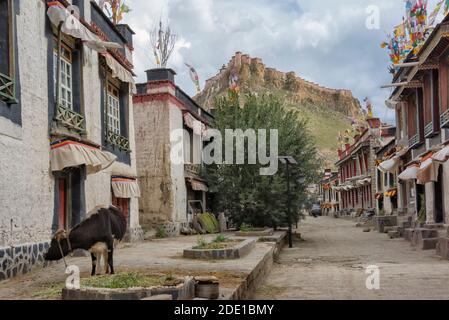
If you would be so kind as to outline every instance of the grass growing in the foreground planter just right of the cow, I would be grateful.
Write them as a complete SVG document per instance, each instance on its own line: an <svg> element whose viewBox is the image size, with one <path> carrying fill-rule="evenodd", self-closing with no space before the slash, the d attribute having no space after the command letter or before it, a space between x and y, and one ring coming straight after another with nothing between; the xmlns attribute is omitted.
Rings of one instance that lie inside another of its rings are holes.
<svg viewBox="0 0 449 320"><path fill-rule="evenodd" d="M82 287L125 289L149 288L155 286L175 286L180 283L173 275L148 275L137 272L125 272L81 280Z"/></svg>

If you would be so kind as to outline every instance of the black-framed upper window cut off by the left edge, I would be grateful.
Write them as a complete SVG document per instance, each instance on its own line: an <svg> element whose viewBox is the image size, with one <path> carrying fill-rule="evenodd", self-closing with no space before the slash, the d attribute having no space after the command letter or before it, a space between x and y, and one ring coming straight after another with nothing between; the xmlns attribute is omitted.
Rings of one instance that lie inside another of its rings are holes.
<svg viewBox="0 0 449 320"><path fill-rule="evenodd" d="M0 0L0 100L8 104L17 102L14 54L13 0Z"/></svg>

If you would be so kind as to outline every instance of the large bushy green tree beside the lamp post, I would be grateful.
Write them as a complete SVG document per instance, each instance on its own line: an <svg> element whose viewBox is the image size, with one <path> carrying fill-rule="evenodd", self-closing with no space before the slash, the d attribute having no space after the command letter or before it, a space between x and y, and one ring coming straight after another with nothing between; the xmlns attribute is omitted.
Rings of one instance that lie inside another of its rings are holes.
<svg viewBox="0 0 449 320"><path fill-rule="evenodd" d="M287 110L273 95L246 95L243 100L242 106L236 93L216 99L216 128L223 139L226 129L278 130L279 155L293 156L298 162L290 170L291 208L294 221L297 221L307 198L305 187L315 180L319 168L315 142L307 129L307 121L297 111ZM267 140L269 143L269 138ZM247 159L248 148L245 147L245 163L248 163ZM211 189L216 191L215 211L224 212L237 227L243 223L254 227L286 225L285 167L280 164L273 176L260 175L261 167L260 164L211 165L206 169L206 178ZM300 178L305 181L300 181Z"/></svg>

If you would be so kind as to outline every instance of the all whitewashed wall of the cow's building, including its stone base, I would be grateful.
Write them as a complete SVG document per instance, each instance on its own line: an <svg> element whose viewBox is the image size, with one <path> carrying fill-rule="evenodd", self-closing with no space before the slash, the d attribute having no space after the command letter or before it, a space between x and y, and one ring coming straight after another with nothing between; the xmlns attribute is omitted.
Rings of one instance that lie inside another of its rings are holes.
<svg viewBox="0 0 449 320"><path fill-rule="evenodd" d="M86 20L90 20L90 2ZM0 117L0 280L26 273L39 263L51 238L54 216L54 176L50 171L48 121L48 40L46 5L41 0L20 1L17 59L20 70L22 126ZM98 54L83 69L84 114L87 139L101 141L101 83ZM120 170L136 175L132 96L129 96L131 166ZM14 108L14 106L12 106ZM112 169L87 176L86 211L111 204ZM138 200L130 203L131 238L142 234Z"/></svg>

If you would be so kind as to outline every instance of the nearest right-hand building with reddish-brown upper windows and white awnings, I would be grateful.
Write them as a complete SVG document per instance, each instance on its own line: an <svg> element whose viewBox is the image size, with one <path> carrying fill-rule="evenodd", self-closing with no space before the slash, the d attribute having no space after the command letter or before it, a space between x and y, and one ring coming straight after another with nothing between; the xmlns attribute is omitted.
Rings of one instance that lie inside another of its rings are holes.
<svg viewBox="0 0 449 320"><path fill-rule="evenodd" d="M399 212L427 224L449 223L449 16L394 75L387 106L396 112Z"/></svg>

